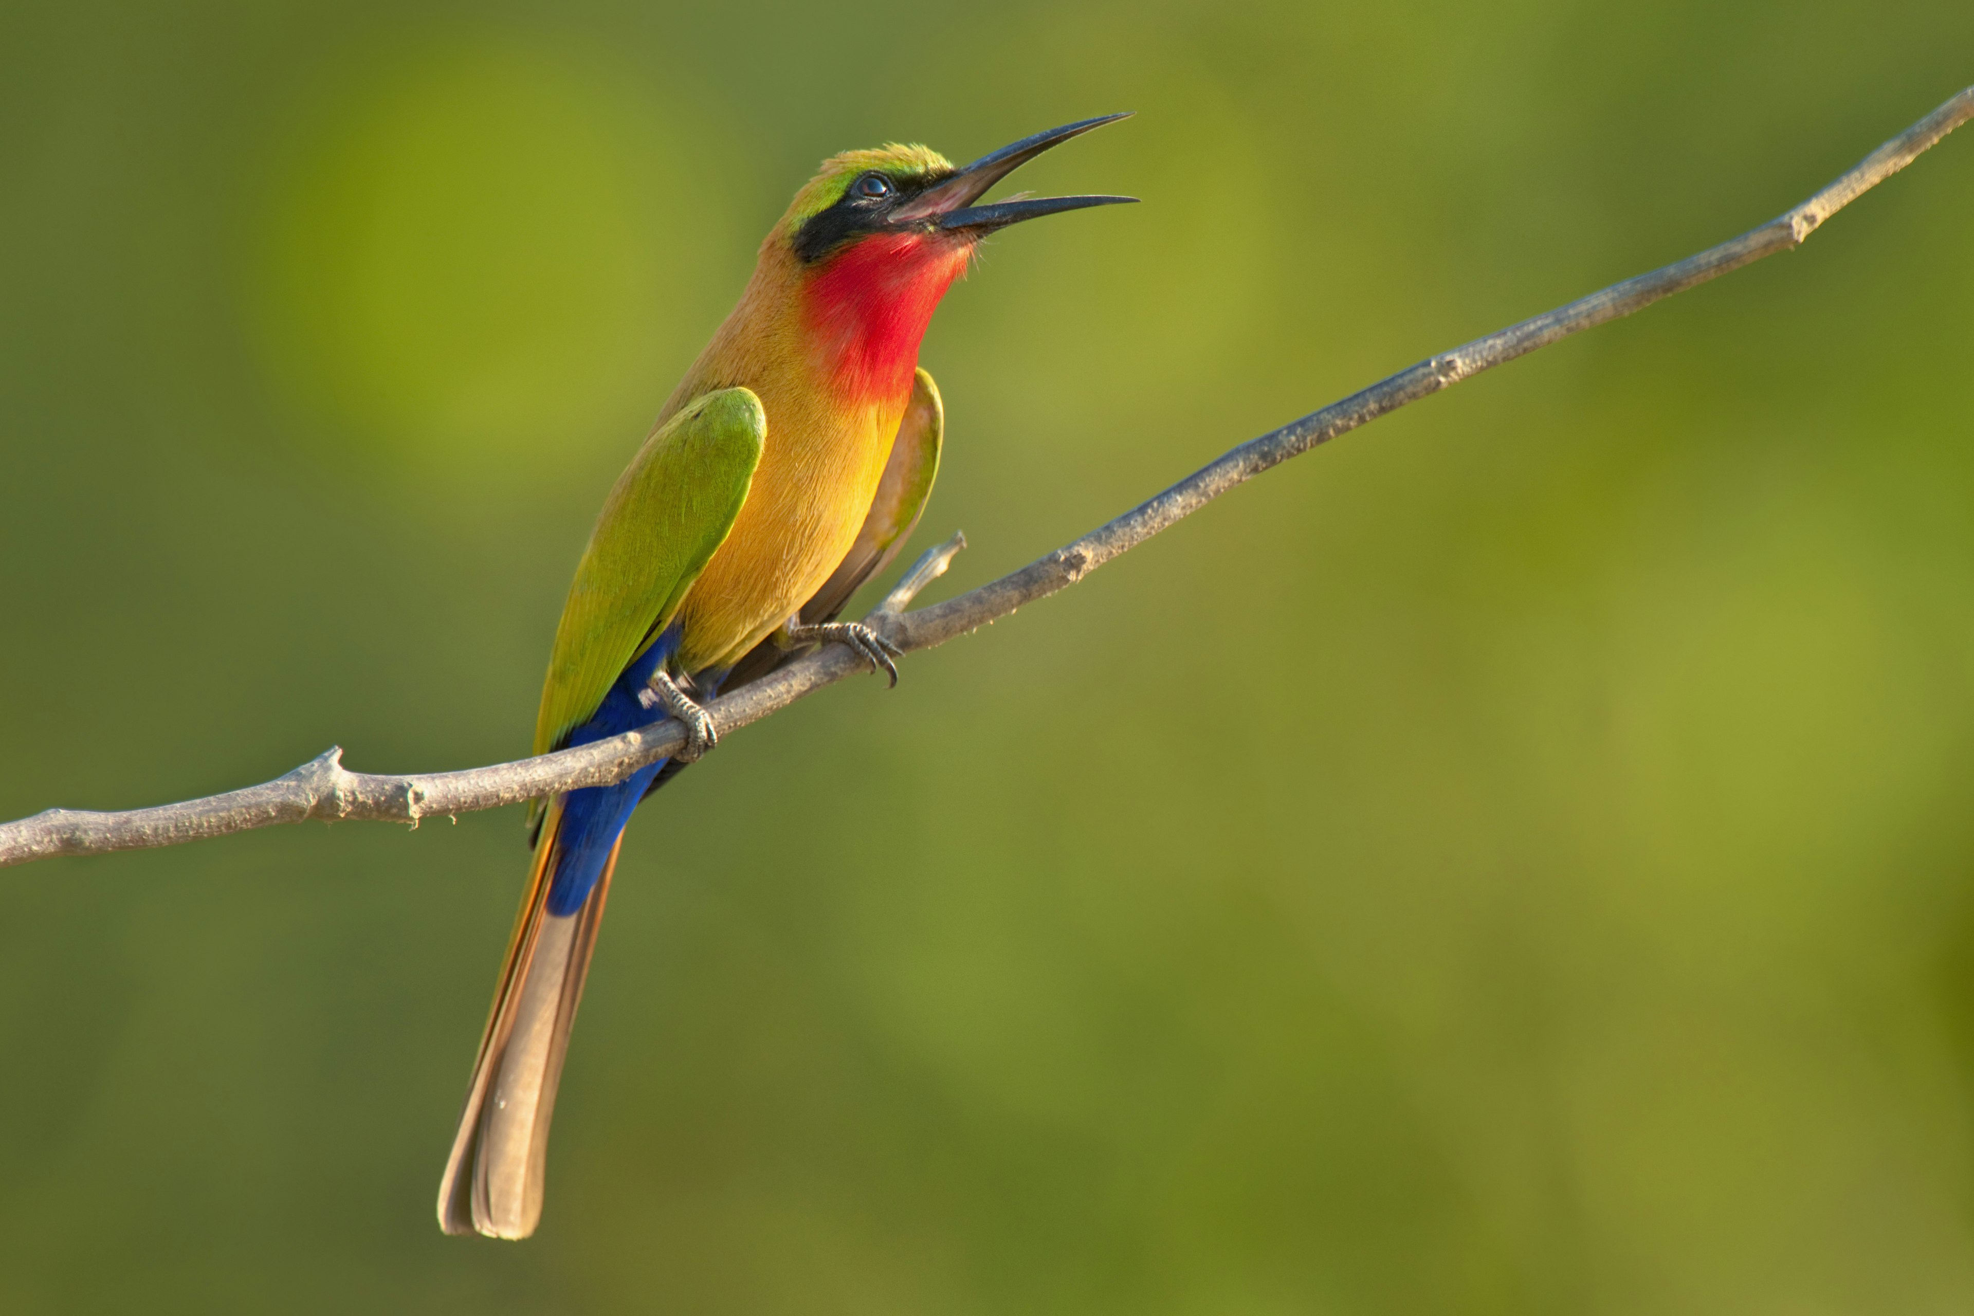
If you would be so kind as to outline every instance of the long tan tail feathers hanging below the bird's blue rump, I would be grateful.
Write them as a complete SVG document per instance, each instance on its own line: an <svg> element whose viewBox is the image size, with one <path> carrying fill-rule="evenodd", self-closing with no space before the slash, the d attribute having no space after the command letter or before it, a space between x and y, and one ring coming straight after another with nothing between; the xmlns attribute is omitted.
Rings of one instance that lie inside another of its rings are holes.
<svg viewBox="0 0 1974 1316"><path fill-rule="evenodd" d="M446 1233L478 1229L525 1239L541 1219L555 1091L622 848L620 839L582 910L551 919L543 910L559 829L561 809L547 819L535 850L438 1186L438 1225Z"/></svg>

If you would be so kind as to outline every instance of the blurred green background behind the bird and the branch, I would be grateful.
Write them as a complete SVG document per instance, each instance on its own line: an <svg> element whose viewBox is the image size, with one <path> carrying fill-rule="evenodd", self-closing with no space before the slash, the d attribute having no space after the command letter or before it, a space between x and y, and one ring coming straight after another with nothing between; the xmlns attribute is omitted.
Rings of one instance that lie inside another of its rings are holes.
<svg viewBox="0 0 1974 1316"><path fill-rule="evenodd" d="M934 324L936 598L1970 55L1964 0L8 4L0 817L525 752L833 150L1139 110L1019 182L1145 205ZM0 874L0 1312L1968 1310L1970 215L1974 130L734 736L632 825L527 1245L432 1225L519 811Z"/></svg>

